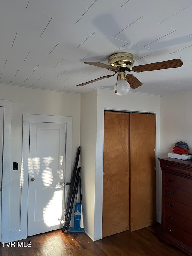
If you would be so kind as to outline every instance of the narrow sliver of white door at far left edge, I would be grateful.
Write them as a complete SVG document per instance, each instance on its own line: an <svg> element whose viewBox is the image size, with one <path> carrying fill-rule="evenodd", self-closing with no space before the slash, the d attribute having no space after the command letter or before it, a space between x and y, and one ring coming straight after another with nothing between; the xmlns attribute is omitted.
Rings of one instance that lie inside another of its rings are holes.
<svg viewBox="0 0 192 256"><path fill-rule="evenodd" d="M2 190L2 165L3 165L3 124L4 124L4 107L0 107L0 190ZM1 207L1 191L0 191ZM0 231L1 231L1 211L0 211ZM1 232L0 232L1 238ZM0 239L1 241L1 239Z"/></svg>

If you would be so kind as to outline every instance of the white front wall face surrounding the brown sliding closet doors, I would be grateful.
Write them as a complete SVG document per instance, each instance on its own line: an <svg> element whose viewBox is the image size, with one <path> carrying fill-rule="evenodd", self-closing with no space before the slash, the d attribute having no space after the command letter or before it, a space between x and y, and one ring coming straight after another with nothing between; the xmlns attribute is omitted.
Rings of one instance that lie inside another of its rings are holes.
<svg viewBox="0 0 192 256"><path fill-rule="evenodd" d="M156 184L157 184L157 220L161 221L161 191L159 186L159 148L160 148L160 107L161 97L129 92L118 96L113 90L98 89L97 104L97 146L95 175L95 231L94 240L102 237L102 196L103 196L103 137L104 110L125 110L156 113Z"/></svg>

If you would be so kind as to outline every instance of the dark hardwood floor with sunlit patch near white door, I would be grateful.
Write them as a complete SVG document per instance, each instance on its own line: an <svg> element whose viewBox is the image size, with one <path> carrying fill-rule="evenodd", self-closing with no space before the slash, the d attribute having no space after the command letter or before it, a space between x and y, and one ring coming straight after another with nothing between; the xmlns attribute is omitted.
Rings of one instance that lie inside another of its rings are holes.
<svg viewBox="0 0 192 256"><path fill-rule="evenodd" d="M93 242L85 233L62 233L56 230L36 236L30 236L25 240L31 242L31 247L0 247L2 256L186 256L172 245L164 245L157 239L160 225L146 227L134 232L125 231L102 240ZM19 241L20 244L22 241ZM28 243L30 245L30 243Z"/></svg>

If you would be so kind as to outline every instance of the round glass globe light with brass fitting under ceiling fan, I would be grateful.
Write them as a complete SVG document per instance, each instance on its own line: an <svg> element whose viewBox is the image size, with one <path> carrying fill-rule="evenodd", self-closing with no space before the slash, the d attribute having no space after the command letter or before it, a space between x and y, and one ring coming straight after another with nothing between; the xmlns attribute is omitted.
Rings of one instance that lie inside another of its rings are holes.
<svg viewBox="0 0 192 256"><path fill-rule="evenodd" d="M130 85L126 79L127 77L125 72L117 73L117 82L114 84L114 92L119 96L128 94L130 90Z"/></svg>

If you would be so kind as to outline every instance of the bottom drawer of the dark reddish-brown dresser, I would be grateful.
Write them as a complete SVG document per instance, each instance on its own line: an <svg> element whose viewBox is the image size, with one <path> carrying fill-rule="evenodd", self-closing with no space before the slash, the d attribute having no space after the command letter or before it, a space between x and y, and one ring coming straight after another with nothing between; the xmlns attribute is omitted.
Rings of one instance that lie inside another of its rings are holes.
<svg viewBox="0 0 192 256"><path fill-rule="evenodd" d="M169 222L165 222L165 233L183 242L185 245L192 246L192 235Z"/></svg>

